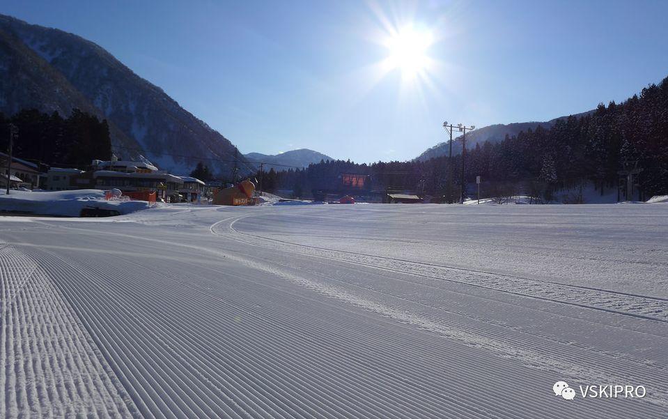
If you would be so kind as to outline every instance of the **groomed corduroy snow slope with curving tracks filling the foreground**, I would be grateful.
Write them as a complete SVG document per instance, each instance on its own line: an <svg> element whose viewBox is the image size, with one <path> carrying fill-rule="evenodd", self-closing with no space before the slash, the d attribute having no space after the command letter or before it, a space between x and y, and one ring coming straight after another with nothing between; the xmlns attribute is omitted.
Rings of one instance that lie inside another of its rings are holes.
<svg viewBox="0 0 668 419"><path fill-rule="evenodd" d="M3 217L0 418L666 418L666 220L664 204ZM646 397L578 387L609 384Z"/></svg>

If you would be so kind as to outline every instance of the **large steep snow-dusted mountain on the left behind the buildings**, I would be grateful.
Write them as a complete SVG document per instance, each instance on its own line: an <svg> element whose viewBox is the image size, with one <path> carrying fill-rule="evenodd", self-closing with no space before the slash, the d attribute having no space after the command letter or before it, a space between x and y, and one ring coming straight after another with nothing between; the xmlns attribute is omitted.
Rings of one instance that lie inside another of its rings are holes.
<svg viewBox="0 0 668 419"><path fill-rule="evenodd" d="M234 165L228 139L91 41L0 15L0 57L0 112L35 107L67 115L77 107L109 121L121 158L143 155L177 174L202 160L214 172Z"/></svg>

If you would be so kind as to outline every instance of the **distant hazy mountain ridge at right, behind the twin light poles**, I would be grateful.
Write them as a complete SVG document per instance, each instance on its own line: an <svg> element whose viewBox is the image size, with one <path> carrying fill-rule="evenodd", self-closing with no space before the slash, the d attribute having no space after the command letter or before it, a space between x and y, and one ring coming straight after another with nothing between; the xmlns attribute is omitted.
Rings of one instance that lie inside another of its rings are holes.
<svg viewBox="0 0 668 419"><path fill-rule="evenodd" d="M584 116L593 111L582 112L582 114L577 114L573 116ZM495 125L488 125L477 130L472 130L466 134L466 148L474 148L476 144L483 144L484 142L501 142L506 135L513 137L513 135L518 135L522 131L527 131L529 129L535 130L538 125L541 125L543 128L548 129L554 122L558 119L568 118L568 116L559 116L559 118L551 119L550 121L545 122L517 122L517 123L497 123ZM446 138L447 132L443 132L443 137ZM457 155L462 152L462 137L458 135L458 132L453 132L453 144L452 144L452 153ZM415 160L429 160L430 158L439 157L440 155L448 155L450 153L450 148L448 142L440 142L433 147L427 148L423 153L421 153Z"/></svg>

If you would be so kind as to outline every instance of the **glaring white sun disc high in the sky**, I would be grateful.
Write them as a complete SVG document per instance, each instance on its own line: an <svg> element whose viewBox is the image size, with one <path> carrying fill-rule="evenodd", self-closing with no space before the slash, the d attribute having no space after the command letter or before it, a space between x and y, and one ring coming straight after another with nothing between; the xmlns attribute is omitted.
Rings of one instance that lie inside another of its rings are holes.
<svg viewBox="0 0 668 419"><path fill-rule="evenodd" d="M430 58L427 54L434 43L432 33L406 26L393 33L385 41L389 56L385 60L387 70L398 68L404 77L412 78L428 69Z"/></svg>

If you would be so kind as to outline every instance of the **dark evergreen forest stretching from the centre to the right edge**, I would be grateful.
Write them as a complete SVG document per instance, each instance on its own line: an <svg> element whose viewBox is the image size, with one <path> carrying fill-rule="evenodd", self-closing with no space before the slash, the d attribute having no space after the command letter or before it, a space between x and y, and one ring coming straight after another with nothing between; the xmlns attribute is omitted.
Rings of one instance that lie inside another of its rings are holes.
<svg viewBox="0 0 668 419"><path fill-rule="evenodd" d="M506 136L502 142L476 144L465 155L419 162L377 162L371 165L336 160L304 169L258 172L263 189L293 190L308 197L319 188L334 189L341 173L371 176L373 190L410 190L426 195L459 197L460 188L474 185L476 176L516 192L550 201L554 192L590 181L601 195L619 183L619 170L637 162L644 197L668 194L668 77L619 104L598 105L583 116L559 119L550 128ZM452 183L451 180L452 172ZM453 191L449 190L450 185ZM473 192L473 191L470 191Z"/></svg>

